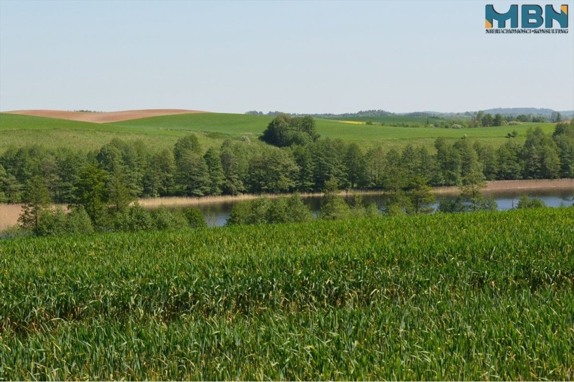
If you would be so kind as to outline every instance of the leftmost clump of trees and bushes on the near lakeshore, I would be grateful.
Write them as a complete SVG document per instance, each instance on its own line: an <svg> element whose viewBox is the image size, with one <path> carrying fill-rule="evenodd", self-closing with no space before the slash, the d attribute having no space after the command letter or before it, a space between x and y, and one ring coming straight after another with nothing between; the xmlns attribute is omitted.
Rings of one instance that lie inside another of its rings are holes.
<svg viewBox="0 0 574 382"><path fill-rule="evenodd" d="M80 174L77 203L69 212L52 205L52 199L40 177L26 184L22 195L21 227L38 236L89 234L95 231L148 231L176 228L205 227L203 214L195 208L158 208L149 211L135 203L130 205L129 190L110 178L106 187L106 173L88 165Z"/></svg>

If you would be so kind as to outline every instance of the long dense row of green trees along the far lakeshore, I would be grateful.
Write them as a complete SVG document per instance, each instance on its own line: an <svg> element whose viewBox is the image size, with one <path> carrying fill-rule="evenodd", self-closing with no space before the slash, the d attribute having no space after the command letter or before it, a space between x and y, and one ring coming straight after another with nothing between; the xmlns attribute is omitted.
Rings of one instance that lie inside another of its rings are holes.
<svg viewBox="0 0 574 382"><path fill-rule="evenodd" d="M473 178L574 177L572 122L557 124L552 135L530 129L523 144L509 138L500 147L437 138L431 152L414 145L364 150L356 143L318 138L307 117L294 123L296 118L279 118L270 126L287 126L289 134L280 136L288 139L274 141L281 147L226 141L204 149L193 134L172 149L156 151L141 141L120 139L90 152L13 147L0 155L0 202L21 202L26 185L41 182L52 202L82 205L93 217L104 205L120 211L138 197L320 192L331 179L341 189L408 192L418 181L459 186Z"/></svg>

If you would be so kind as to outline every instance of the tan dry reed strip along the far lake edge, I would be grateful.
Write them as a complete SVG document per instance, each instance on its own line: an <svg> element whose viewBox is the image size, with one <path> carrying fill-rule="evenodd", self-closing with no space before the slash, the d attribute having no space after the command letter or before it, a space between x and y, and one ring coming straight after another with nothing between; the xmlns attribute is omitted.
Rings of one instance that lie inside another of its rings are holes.
<svg viewBox="0 0 574 382"><path fill-rule="evenodd" d="M510 181L490 181L487 182L485 188L481 192L488 194L495 194L498 192L508 192L514 190L540 190L540 189L571 189L574 191L574 178L569 179L553 179L553 180L510 180ZM383 194L380 190L343 190L339 192L339 196L350 196L352 194L358 195L373 195ZM457 186L448 187L435 187L432 189L435 195L448 195L458 194L460 189ZM160 206L194 206L194 205L208 205L216 203L233 203L241 200L253 200L260 197L280 197L289 196L290 194L241 194L236 196L204 196L204 197L181 197L181 196L168 196L157 198L139 199L140 205L147 208L156 208ZM323 193L300 193L302 197L320 197ZM64 209L67 205L61 206ZM6 228L13 227L18 224L18 217L22 209L21 204L3 204L0 203L0 232Z"/></svg>

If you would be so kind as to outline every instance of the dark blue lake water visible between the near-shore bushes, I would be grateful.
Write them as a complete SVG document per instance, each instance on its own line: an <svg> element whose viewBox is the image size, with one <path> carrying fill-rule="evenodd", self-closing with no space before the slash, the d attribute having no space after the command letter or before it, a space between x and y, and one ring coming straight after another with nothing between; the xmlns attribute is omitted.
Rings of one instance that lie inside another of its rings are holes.
<svg viewBox="0 0 574 382"><path fill-rule="evenodd" d="M518 200L522 195L528 195L529 197L540 198L546 206L558 207L560 205L571 206L574 204L574 190L569 189L533 189L533 190L498 190L484 192L485 196L492 196L495 198L498 204L499 211L513 209L518 204ZM385 204L386 196L384 194L362 194L363 201L366 203L374 203L377 206L382 206ZM437 195L436 203L433 207L436 209L439 205L441 199L454 200L458 194L443 194ZM346 196L346 198L351 198L351 195ZM307 204L313 213L319 211L321 205L320 196L304 197L305 204ZM213 204L200 205L199 209L203 212L205 216L205 221L210 227L222 226L226 223L231 208L237 203L227 201Z"/></svg>

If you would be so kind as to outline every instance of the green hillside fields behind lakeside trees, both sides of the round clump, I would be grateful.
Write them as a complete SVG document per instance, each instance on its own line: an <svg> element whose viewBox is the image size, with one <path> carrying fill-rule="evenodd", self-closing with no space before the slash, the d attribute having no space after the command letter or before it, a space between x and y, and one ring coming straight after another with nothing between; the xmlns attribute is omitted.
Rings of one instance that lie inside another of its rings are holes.
<svg viewBox="0 0 574 382"><path fill-rule="evenodd" d="M393 118L404 118L405 123L420 119L401 116ZM219 146L225 139L245 139L245 137L251 140L257 139L272 119L270 116L206 113L157 116L98 124L2 113L0 153L10 146L21 147L33 143L46 147L71 146L75 149L94 150L113 138L128 141L141 139L153 147L172 147L179 137L188 132L196 132L203 147ZM409 143L432 147L437 137L455 140L464 135L498 146L506 142L506 135L513 130L518 132L519 135L515 139L520 142L530 127L540 126L546 133L554 130L554 125L550 123L456 130L438 127L381 126L380 123L352 124L333 119L316 119L316 126L321 137L340 138L367 147L373 145L404 147Z"/></svg>

